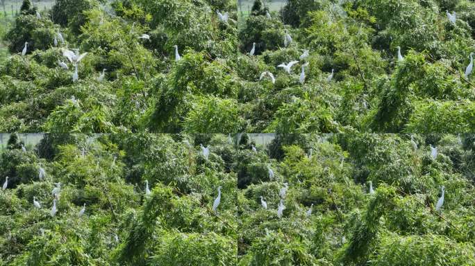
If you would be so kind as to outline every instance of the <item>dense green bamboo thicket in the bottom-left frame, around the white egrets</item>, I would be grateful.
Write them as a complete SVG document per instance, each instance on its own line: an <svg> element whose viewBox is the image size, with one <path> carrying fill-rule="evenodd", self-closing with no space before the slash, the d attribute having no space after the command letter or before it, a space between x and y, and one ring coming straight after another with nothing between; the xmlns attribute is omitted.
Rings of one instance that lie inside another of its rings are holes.
<svg viewBox="0 0 475 266"><path fill-rule="evenodd" d="M47 135L21 147L12 135L0 151L0 265L235 265L238 158L227 137Z"/></svg>

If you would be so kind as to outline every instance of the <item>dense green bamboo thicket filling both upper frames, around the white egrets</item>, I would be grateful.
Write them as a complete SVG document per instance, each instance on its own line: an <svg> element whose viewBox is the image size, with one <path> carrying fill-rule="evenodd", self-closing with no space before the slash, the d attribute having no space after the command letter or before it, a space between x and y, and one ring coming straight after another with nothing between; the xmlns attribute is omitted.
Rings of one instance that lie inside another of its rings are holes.
<svg viewBox="0 0 475 266"><path fill-rule="evenodd" d="M40 16L26 8L4 37L12 56L0 67L0 131L474 130L475 87L463 74L474 2L289 0L270 13L258 2L239 31L231 0L58 0ZM54 46L58 32L65 43ZM58 66L65 47L88 53L78 82L72 64ZM291 74L278 67L292 60ZM275 84L259 80L264 71Z"/></svg>

